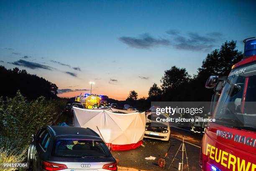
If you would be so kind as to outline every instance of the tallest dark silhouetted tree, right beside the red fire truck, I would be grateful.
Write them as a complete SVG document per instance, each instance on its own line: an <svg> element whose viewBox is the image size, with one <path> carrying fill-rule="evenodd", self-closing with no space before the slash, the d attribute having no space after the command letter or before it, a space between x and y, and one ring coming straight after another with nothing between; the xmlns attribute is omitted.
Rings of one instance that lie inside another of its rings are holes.
<svg viewBox="0 0 256 171"><path fill-rule="evenodd" d="M243 59L243 53L236 49L236 41L226 41L220 49L215 49L202 62L198 74L188 85L191 101L211 101L213 89L206 89L205 82L210 75L227 76L231 67Z"/></svg>

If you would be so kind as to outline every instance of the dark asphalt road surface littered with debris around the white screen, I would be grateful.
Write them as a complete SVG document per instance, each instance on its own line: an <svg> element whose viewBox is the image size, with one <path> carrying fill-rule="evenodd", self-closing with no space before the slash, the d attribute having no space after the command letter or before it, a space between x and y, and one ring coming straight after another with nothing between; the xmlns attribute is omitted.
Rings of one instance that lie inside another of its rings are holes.
<svg viewBox="0 0 256 171"><path fill-rule="evenodd" d="M72 117L69 115L62 115L56 122L62 123L66 122L68 125L72 126ZM198 160L201 145L201 135L192 135L186 130L171 127L171 136L169 141L160 141L152 139L143 139L143 145L128 151L112 151L113 156L118 160L118 166L127 168L136 168L138 170L146 171L162 171L167 170L167 168L161 168L157 164L157 160L164 156L170 145L173 145L168 152L166 158L166 166L168 167L175 153L179 149L182 143L182 136L185 141L185 148L188 157L189 171L201 171ZM155 160L146 160L146 157L153 156L156 157ZM174 165L170 167L170 171L177 171L179 162L181 162L182 152L179 151L177 154L177 159L174 161ZM186 158L184 153L184 171L187 170Z"/></svg>

